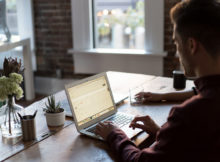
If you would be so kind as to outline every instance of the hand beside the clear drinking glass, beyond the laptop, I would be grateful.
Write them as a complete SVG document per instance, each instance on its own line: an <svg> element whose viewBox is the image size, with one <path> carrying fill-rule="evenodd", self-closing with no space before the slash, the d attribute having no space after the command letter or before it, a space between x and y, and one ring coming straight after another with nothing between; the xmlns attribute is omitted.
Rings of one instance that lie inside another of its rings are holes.
<svg viewBox="0 0 220 162"><path fill-rule="evenodd" d="M163 100L163 95L160 93L140 92L136 94L136 100L142 100L142 103L146 102L158 102Z"/></svg>

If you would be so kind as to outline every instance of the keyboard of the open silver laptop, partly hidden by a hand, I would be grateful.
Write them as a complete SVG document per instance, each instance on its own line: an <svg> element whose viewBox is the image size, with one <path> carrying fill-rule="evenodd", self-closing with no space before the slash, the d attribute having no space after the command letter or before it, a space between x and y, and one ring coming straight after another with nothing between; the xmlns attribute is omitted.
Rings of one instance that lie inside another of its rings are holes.
<svg viewBox="0 0 220 162"><path fill-rule="evenodd" d="M114 115L111 118L109 118L107 121L111 121L115 125L117 125L119 128L121 128L124 125L130 123L132 121L132 119L133 118L130 117L130 116L126 116L126 115L123 115L123 114L117 114L117 115ZM96 129L96 126L93 126L89 129L87 129L87 131L91 132L91 133L95 133L95 129Z"/></svg>

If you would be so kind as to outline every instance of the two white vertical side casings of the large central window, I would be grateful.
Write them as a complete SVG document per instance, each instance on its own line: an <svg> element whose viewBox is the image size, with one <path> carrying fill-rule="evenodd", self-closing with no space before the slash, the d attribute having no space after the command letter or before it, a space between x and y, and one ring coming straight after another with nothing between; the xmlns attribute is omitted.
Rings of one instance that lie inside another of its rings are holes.
<svg viewBox="0 0 220 162"><path fill-rule="evenodd" d="M94 49L93 1L71 1L73 48ZM145 51L164 53L164 0L145 0Z"/></svg>

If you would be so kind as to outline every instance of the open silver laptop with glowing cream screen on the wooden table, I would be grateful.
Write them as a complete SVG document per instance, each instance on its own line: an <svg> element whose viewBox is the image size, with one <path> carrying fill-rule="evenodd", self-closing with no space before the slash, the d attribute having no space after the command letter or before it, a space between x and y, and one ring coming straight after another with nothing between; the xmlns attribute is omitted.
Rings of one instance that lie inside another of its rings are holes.
<svg viewBox="0 0 220 162"><path fill-rule="evenodd" d="M115 123L129 138L142 131L129 128L133 115L117 112L106 73L65 85L65 91L79 133L103 140L95 134L95 127L106 120Z"/></svg>

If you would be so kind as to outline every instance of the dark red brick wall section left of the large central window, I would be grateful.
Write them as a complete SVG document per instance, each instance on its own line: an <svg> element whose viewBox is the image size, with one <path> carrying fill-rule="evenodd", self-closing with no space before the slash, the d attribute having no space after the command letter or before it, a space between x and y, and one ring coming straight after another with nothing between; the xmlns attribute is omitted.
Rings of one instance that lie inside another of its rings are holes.
<svg viewBox="0 0 220 162"><path fill-rule="evenodd" d="M34 0L37 72L40 76L64 77L73 74L70 0Z"/></svg>

